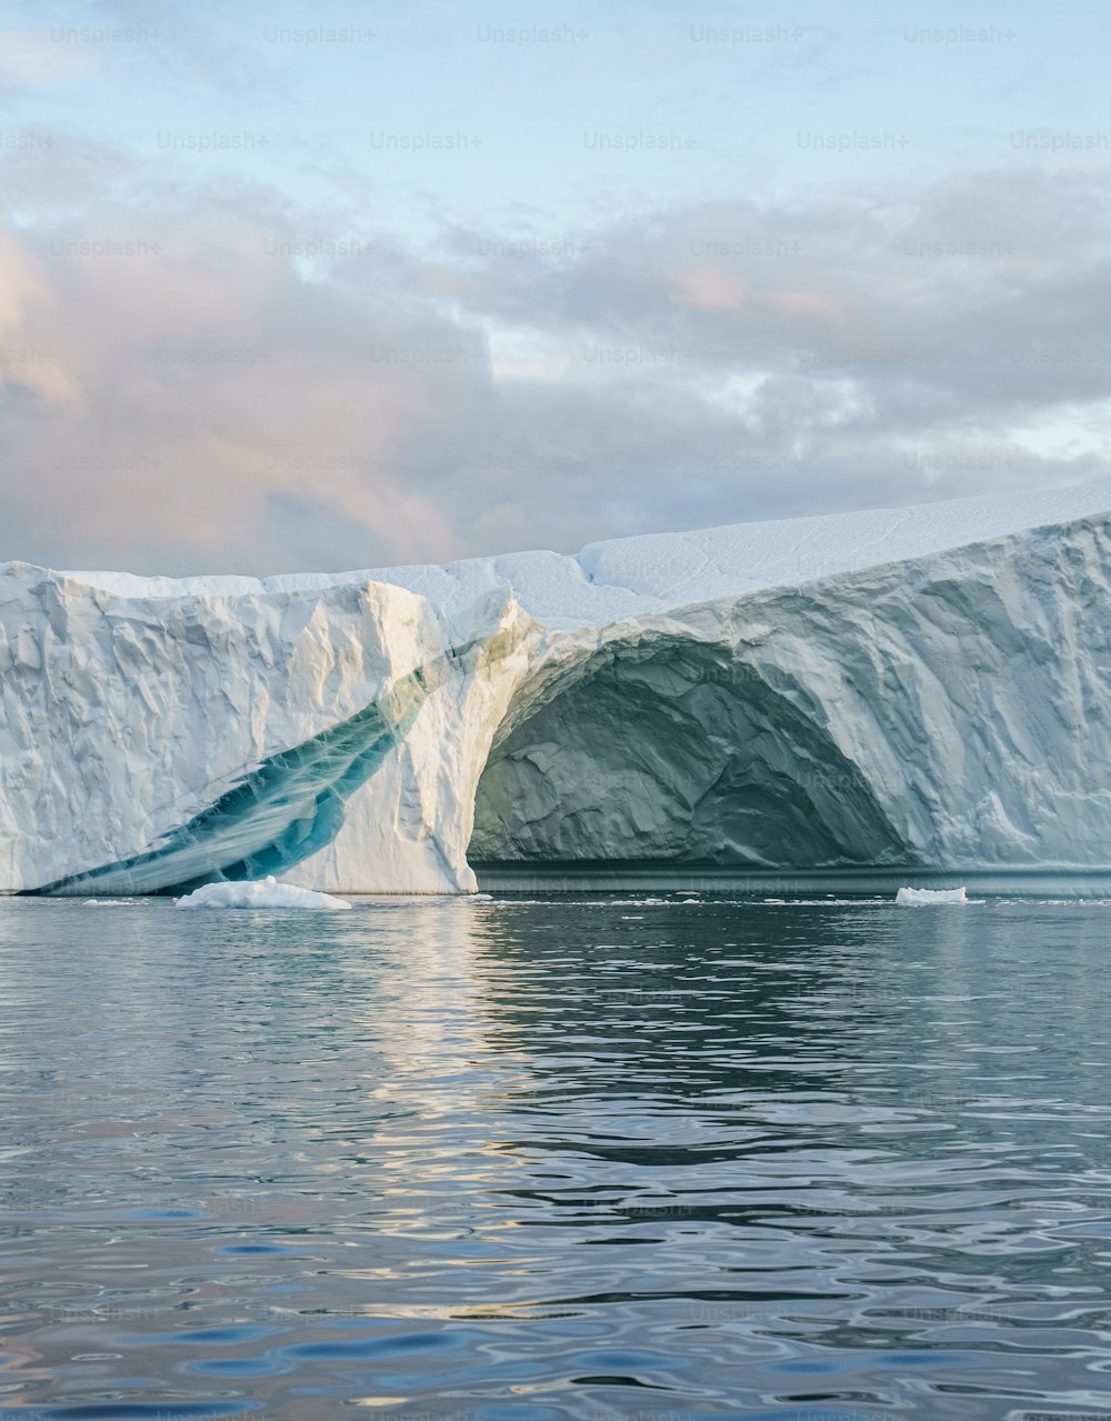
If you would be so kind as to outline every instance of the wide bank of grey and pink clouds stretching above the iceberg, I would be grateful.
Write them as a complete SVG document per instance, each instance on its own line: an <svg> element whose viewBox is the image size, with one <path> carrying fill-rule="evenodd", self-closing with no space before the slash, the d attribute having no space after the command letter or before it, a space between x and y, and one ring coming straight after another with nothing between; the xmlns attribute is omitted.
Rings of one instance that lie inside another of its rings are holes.
<svg viewBox="0 0 1111 1421"><path fill-rule="evenodd" d="M0 554L340 568L1075 480L1107 458L1100 176L430 253L263 192L60 207L0 236Z"/></svg>

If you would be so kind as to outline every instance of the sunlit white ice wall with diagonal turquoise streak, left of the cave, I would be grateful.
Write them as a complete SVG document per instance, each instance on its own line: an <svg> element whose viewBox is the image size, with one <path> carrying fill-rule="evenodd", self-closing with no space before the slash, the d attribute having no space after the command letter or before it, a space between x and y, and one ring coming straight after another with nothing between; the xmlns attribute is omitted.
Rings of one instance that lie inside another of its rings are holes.
<svg viewBox="0 0 1111 1421"><path fill-rule="evenodd" d="M365 580L112 585L0 577L0 887L473 888L475 784L531 635L504 588L443 621Z"/></svg>

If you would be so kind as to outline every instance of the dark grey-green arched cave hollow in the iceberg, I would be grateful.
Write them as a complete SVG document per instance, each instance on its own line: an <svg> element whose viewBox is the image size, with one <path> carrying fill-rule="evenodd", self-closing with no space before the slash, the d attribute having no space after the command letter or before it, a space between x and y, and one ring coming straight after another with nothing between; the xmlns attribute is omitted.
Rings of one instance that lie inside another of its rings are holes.
<svg viewBox="0 0 1111 1421"><path fill-rule="evenodd" d="M729 648L605 648L523 709L479 782L472 865L854 867L914 855L828 730Z"/></svg>

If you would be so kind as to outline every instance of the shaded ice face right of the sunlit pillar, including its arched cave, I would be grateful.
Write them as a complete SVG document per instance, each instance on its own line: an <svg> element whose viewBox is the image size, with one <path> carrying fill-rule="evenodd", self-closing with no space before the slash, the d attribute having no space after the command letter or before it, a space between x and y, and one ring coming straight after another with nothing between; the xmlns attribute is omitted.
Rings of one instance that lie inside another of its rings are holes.
<svg viewBox="0 0 1111 1421"><path fill-rule="evenodd" d="M1111 865L1110 554L1093 519L551 645L472 858Z"/></svg>

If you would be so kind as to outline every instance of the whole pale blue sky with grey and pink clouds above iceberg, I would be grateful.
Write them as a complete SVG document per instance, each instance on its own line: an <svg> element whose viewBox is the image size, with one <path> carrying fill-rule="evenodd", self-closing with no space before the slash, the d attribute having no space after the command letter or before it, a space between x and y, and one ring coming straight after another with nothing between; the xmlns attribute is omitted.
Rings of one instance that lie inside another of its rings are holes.
<svg viewBox="0 0 1111 1421"><path fill-rule="evenodd" d="M332 571L1102 473L1108 41L1087 0L0 3L0 558Z"/></svg>

